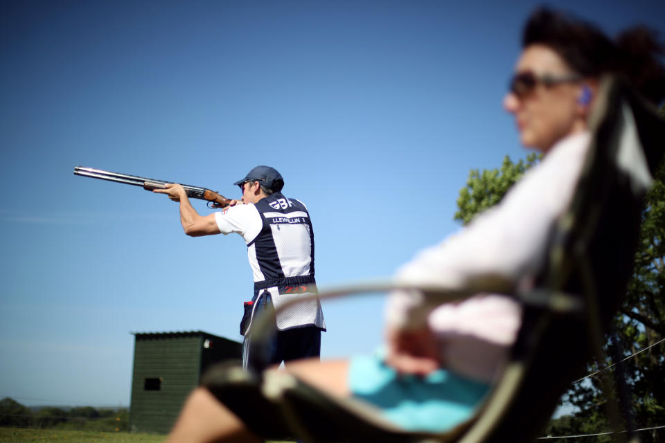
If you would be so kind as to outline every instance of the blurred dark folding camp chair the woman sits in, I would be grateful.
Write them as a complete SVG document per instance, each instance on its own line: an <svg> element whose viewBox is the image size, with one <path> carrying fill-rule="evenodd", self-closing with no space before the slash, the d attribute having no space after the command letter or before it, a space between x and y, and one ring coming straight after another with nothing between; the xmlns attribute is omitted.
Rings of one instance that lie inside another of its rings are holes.
<svg viewBox="0 0 665 443"><path fill-rule="evenodd" d="M474 417L446 433L403 431L361 401L331 398L282 372L264 377L240 368L213 368L204 377L204 386L232 409L275 417L283 427L267 432L273 435L253 429L271 438L295 437L303 442L535 440L558 399L602 347L632 273L642 200L665 151L665 120L621 80L603 79L597 100L589 120L592 146L583 174L569 210L549 237L542 269L520 281L479 278L463 290L415 288L429 300L428 309L479 292L511 294L524 306L510 362ZM527 280L535 284L524 289L522 283ZM366 284L321 292L319 298L396 287ZM271 320L263 320L265 330L270 329L265 325Z"/></svg>

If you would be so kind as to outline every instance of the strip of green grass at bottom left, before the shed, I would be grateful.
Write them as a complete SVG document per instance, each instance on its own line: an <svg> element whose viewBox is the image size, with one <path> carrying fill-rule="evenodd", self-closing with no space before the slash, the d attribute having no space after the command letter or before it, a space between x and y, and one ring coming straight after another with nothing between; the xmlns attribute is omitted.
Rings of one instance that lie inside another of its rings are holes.
<svg viewBox="0 0 665 443"><path fill-rule="evenodd" d="M127 432L61 431L59 429L0 428L0 442L17 443L161 443L165 435Z"/></svg>

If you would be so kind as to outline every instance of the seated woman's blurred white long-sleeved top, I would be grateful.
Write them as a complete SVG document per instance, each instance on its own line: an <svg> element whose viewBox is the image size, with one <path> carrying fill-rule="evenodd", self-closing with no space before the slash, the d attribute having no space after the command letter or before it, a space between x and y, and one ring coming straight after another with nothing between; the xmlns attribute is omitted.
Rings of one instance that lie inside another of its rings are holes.
<svg viewBox="0 0 665 443"><path fill-rule="evenodd" d="M549 233L571 202L589 141L585 132L554 145L499 204L441 244L420 252L398 270L396 281L456 289L486 275L515 281L537 271ZM411 308L421 302L417 293L393 293L387 325L407 325ZM448 368L490 381L507 358L520 318L521 307L514 300L480 294L436 307L427 323L441 343Z"/></svg>

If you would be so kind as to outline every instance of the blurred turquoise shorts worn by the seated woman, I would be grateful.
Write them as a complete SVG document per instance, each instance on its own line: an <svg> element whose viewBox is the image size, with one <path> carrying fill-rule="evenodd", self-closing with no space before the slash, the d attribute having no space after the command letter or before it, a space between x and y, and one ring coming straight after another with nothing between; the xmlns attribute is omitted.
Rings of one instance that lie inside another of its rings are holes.
<svg viewBox="0 0 665 443"><path fill-rule="evenodd" d="M489 390L486 383L443 369L427 377L398 376L380 353L353 357L348 380L354 397L407 431L447 431L472 417Z"/></svg>

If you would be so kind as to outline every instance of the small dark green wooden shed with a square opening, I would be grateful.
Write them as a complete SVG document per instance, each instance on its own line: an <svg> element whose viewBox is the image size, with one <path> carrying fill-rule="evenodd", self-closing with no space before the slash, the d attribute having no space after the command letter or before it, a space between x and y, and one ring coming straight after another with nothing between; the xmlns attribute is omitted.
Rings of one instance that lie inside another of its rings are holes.
<svg viewBox="0 0 665 443"><path fill-rule="evenodd" d="M132 334L131 432L168 433L206 368L242 358L241 343L202 331Z"/></svg>

